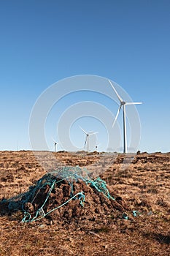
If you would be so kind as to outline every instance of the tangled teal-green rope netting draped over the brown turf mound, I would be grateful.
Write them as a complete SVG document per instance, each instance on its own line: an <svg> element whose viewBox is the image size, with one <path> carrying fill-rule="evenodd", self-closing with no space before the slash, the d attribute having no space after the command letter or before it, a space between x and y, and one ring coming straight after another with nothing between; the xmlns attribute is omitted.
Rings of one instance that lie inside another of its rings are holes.
<svg viewBox="0 0 170 256"><path fill-rule="evenodd" d="M69 200L66 200L65 203L62 203L60 206L57 206L50 211L45 212L45 205L47 203L47 200L50 197L51 192L53 189L55 189L55 185L58 183L61 183L62 181L67 181L69 183L69 186L71 187L71 192L69 195ZM84 206L85 202L85 194L84 192L80 191L77 192L76 195L74 195L74 182L83 181L85 184L89 184L90 187L96 189L96 191L102 193L105 197L115 200L114 197L112 197L109 194L109 189L107 189L107 184L104 180L101 178L90 178L88 170L85 168L80 168L79 166L76 167L59 167L58 170L55 170L51 173L47 173L45 176L39 179L39 181L36 182L35 186L31 186L25 194L20 195L20 200L17 198L12 198L9 200L9 209L17 209L20 208L24 213L24 217L22 219L22 222L34 222L39 219L42 219L46 217L48 214L52 213L53 211L57 210L58 208L61 208L62 206L65 206L67 203L69 203L71 200L78 199L80 200L80 206ZM34 217L31 217L31 214L28 210L25 208L25 204L30 202L34 203L34 200L36 200L37 195L39 195L39 192L41 189L47 188L47 185L50 187L50 189L47 192L47 195L45 197L45 201L42 203L42 206L39 207L38 210L36 210L36 213L34 214Z"/></svg>

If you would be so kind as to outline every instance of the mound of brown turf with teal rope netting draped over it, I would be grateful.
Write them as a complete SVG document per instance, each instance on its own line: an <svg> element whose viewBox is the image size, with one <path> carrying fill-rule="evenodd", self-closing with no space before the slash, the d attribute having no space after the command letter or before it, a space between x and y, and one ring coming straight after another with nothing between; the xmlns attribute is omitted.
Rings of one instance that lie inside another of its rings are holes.
<svg viewBox="0 0 170 256"><path fill-rule="evenodd" d="M121 217L127 207L112 195L101 178L90 178L80 167L63 167L47 173L28 192L3 200L1 208L23 211L23 222L50 219L58 224L80 223Z"/></svg>

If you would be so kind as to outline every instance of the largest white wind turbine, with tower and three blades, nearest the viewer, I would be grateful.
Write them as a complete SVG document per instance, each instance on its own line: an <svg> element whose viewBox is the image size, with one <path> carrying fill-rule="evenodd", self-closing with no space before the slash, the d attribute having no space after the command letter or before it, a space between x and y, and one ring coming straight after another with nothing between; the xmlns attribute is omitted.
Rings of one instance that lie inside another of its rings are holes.
<svg viewBox="0 0 170 256"><path fill-rule="evenodd" d="M117 117L120 113L120 109L123 107L123 153L127 153L127 134L126 134L126 116L125 116L125 106L126 105L136 105L136 104L142 104L142 102L125 102L120 95L117 93L115 87L113 86L113 84L111 83L111 81L109 80L110 85L112 86L112 89L115 91L115 94L117 95L117 98L120 101L120 107L117 110L117 114L115 116L115 120L112 124L112 127L114 127L115 125L115 121L117 120Z"/></svg>

